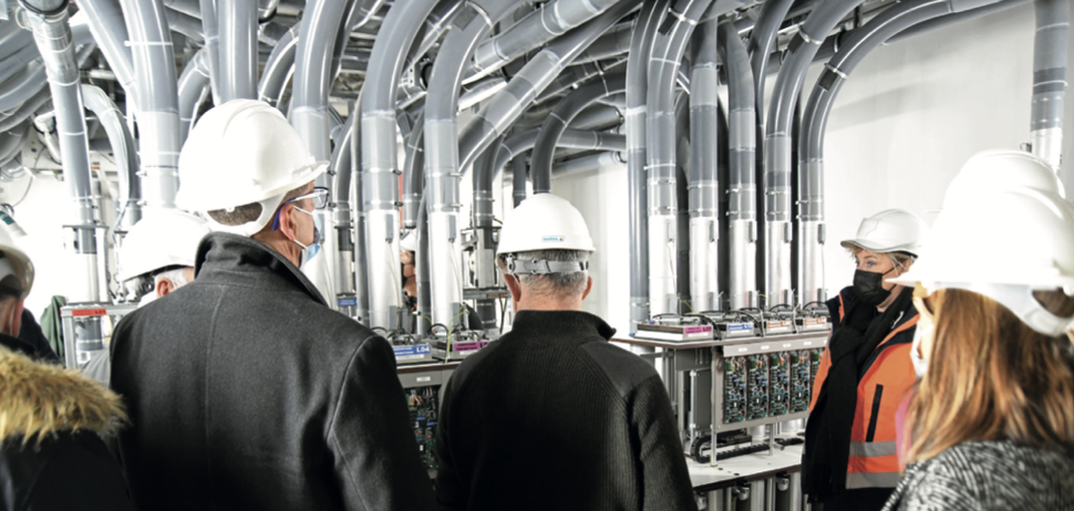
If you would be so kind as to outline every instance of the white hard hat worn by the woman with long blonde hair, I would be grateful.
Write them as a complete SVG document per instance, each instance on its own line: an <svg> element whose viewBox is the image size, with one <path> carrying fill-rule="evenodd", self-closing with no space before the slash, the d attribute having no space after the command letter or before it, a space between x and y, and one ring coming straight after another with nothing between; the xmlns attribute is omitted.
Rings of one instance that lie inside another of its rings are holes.
<svg viewBox="0 0 1074 511"><path fill-rule="evenodd" d="M967 197L940 212L921 257L889 282L973 291L1057 336L1074 326L1074 317L1056 317L1033 292L1074 294L1074 205L1030 188Z"/></svg>

